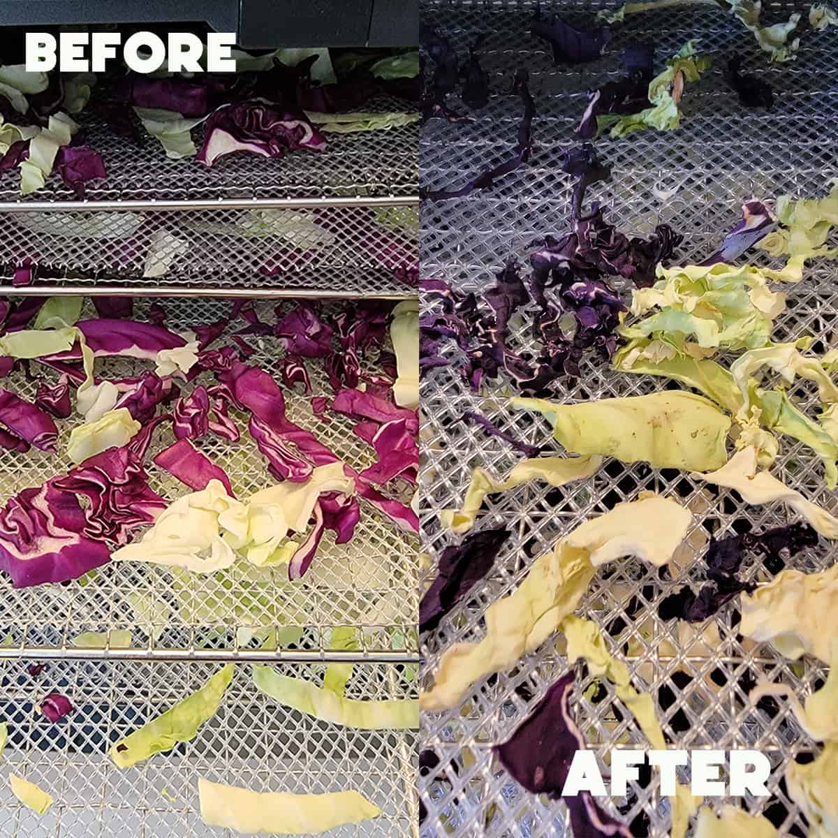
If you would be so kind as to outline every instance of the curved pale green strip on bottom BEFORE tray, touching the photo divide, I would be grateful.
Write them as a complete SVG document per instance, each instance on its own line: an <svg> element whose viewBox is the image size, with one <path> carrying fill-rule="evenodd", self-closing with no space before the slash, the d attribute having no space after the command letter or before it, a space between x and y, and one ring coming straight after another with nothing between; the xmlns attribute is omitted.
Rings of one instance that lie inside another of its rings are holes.
<svg viewBox="0 0 838 838"><path fill-rule="evenodd" d="M417 730L419 727L419 702L412 699L346 698L313 681L280 675L270 666L254 666L253 683L280 704L323 722L360 730Z"/></svg>

